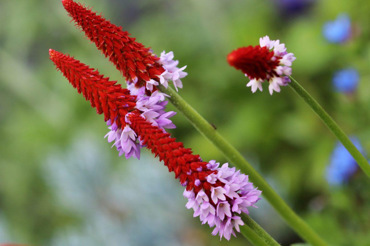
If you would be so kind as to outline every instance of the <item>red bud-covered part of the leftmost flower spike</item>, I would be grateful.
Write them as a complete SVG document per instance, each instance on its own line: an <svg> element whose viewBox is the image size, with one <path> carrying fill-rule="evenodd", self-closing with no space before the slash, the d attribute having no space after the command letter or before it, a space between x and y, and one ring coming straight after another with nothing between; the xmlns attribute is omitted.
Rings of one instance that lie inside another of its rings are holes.
<svg viewBox="0 0 370 246"><path fill-rule="evenodd" d="M125 115L134 109L136 96L130 95L129 90L122 89L120 84L116 84L117 81L104 78L97 70L94 71L69 55L53 49L49 50L49 55L50 60L72 86L77 88L78 93L82 92L86 100L90 100L98 114L104 113L105 121L115 121L118 127L126 125Z"/></svg>

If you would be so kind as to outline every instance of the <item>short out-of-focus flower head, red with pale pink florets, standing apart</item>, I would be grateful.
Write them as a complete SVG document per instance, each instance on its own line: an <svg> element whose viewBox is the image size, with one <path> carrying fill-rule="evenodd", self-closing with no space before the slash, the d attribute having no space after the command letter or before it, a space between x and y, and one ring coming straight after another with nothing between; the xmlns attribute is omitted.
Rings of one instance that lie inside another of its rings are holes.
<svg viewBox="0 0 370 246"><path fill-rule="evenodd" d="M285 44L279 40L270 40L268 36L259 39L259 46L238 48L227 56L230 66L242 70L250 81L247 84L255 93L262 91L262 83L269 82L269 91L280 92L280 86L286 86L289 75L292 74L292 62L296 59L293 53L288 53Z"/></svg>

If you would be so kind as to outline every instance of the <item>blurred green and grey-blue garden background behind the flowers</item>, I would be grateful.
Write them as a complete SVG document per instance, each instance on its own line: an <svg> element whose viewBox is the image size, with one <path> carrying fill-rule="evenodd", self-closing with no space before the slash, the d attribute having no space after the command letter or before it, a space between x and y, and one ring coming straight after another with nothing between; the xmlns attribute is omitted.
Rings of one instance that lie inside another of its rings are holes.
<svg viewBox="0 0 370 246"><path fill-rule="evenodd" d="M269 35L297 60L293 77L370 152L370 1L86 0L155 53L174 51L188 65L180 95L214 124L287 203L331 245L370 245L369 180L359 170L329 186L326 166L336 139L289 88L252 94L226 62L239 46ZM293 1L300 2L300 1ZM84 38L61 2L0 1L0 243L27 245L248 245L211 236L185 208L174 175L143 149L140 161L118 157L103 136L103 117L48 58L48 49L124 83ZM322 26L339 13L353 37L330 44ZM359 71L356 91L334 91L333 72ZM174 110L169 105L168 110ZM225 158L181 113L170 132L203 160ZM232 164L232 163L231 163ZM282 245L302 242L261 200L254 218Z"/></svg>

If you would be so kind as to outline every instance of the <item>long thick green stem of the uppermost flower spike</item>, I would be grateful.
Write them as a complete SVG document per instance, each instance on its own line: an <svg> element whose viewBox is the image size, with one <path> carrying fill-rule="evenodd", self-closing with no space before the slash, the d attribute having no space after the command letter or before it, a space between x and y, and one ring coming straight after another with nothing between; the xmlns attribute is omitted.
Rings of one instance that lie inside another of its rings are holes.
<svg viewBox="0 0 370 246"><path fill-rule="evenodd" d="M249 175L259 190L262 190L262 195L279 213L286 223L295 230L303 239L311 245L327 245L320 236L310 228L309 225L303 221L273 190L271 186L259 175L259 173L244 159L244 157L230 145L222 136L212 127L198 112L194 110L179 94L177 94L171 87L165 88L162 85L158 86L159 90L171 96L171 101L174 106L181 111L186 118L194 125L194 127L207 138L218 150L233 163L235 167L239 168Z"/></svg>

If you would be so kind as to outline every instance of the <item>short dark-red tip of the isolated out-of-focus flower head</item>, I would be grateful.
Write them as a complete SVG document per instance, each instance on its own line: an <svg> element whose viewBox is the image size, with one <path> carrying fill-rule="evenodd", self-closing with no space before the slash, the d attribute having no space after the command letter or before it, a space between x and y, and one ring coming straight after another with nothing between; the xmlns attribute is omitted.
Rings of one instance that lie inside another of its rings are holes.
<svg viewBox="0 0 370 246"><path fill-rule="evenodd" d="M238 48L227 56L230 66L242 70L249 79L269 79L279 76L275 68L279 66L280 56L274 56L273 51L259 45Z"/></svg>

